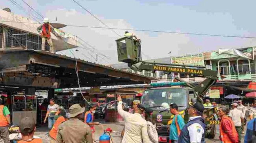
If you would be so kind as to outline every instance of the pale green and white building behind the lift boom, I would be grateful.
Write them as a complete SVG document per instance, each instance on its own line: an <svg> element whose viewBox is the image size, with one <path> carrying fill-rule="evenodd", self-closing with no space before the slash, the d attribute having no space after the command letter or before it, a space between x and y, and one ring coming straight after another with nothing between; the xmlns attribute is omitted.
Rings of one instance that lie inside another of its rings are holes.
<svg viewBox="0 0 256 143"><path fill-rule="evenodd" d="M192 55L189 54L172 58L159 58L145 61L167 64L177 63L185 65L196 65L195 63L197 63L198 66L204 66L206 67L206 69L218 71L220 81L256 81L256 63L254 62L254 55L256 52L255 50L256 49L254 47L246 47L241 49L220 49L219 51L204 52ZM202 56L200 57L200 55ZM118 63L109 66L124 71L138 73L144 76L154 77L159 80L172 79L171 75L165 74L162 71L156 71L154 74L151 71L134 71L130 69L126 63ZM178 76L182 80L192 83L201 82L204 80L204 78L192 77L185 74L174 75Z"/></svg>

